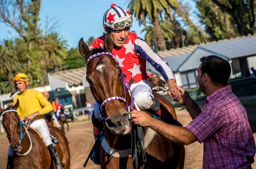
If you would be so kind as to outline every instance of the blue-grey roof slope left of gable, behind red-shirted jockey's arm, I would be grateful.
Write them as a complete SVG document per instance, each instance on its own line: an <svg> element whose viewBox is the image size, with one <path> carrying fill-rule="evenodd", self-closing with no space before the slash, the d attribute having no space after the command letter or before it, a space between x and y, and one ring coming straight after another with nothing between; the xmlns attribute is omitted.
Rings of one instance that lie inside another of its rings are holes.
<svg viewBox="0 0 256 169"><path fill-rule="evenodd" d="M163 60L168 63L168 65L172 69L172 72L177 72L180 65L188 58L189 55L190 53L170 56L170 57L165 57ZM156 71L155 68L148 62L147 62L147 68L153 71Z"/></svg>

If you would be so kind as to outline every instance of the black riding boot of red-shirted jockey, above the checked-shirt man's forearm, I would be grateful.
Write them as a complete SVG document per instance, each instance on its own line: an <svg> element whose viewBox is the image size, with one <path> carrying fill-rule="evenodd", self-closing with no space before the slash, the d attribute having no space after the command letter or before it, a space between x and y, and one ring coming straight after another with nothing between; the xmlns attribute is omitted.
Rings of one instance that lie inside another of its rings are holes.
<svg viewBox="0 0 256 169"><path fill-rule="evenodd" d="M147 110L149 113L160 117L162 120L167 122L168 124L182 126L182 124L173 118L172 114L162 105L162 103L156 99L155 97L152 98L153 104Z"/></svg>

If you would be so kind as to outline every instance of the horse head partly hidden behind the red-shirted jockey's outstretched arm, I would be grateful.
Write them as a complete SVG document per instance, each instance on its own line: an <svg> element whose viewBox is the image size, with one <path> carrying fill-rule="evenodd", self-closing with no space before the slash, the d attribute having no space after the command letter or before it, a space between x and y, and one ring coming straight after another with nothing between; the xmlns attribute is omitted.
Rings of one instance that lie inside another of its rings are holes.
<svg viewBox="0 0 256 169"><path fill-rule="evenodd" d="M166 91L169 87L168 83L160 78L159 75L156 75L152 70L150 70L150 75L148 82L151 85L154 92Z"/></svg>

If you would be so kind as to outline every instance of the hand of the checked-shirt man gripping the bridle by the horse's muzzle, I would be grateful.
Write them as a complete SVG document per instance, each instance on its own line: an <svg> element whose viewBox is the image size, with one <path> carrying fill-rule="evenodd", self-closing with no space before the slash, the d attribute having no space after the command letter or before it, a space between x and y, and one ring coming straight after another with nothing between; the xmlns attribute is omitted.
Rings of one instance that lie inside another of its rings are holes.
<svg viewBox="0 0 256 169"><path fill-rule="evenodd" d="M140 125L142 127L147 127L149 125L149 122L152 120L151 118L153 118L149 116L147 113L138 110L132 110L131 116L134 118L132 120L134 124Z"/></svg>

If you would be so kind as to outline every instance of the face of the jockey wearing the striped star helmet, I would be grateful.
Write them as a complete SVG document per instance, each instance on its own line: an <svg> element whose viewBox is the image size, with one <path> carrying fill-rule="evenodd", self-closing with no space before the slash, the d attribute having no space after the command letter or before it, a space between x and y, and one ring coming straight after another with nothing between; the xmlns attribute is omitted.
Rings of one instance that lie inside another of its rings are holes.
<svg viewBox="0 0 256 169"><path fill-rule="evenodd" d="M106 29L106 28L107 27L104 27L104 29ZM111 29L109 31L109 36L111 37L113 43L117 47L122 47L124 45L125 41L127 40L129 30L130 30L130 27L127 27L127 28L124 28L121 30ZM107 31L107 29L105 31Z"/></svg>

